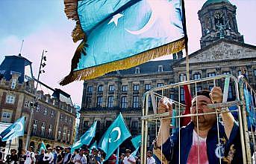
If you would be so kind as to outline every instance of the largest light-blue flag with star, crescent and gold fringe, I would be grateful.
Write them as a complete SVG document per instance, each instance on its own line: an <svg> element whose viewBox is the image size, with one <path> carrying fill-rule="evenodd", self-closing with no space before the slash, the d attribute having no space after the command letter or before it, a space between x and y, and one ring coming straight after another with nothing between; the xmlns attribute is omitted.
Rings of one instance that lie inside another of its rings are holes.
<svg viewBox="0 0 256 164"><path fill-rule="evenodd" d="M83 39L60 85L140 65L185 46L183 0L64 0Z"/></svg>

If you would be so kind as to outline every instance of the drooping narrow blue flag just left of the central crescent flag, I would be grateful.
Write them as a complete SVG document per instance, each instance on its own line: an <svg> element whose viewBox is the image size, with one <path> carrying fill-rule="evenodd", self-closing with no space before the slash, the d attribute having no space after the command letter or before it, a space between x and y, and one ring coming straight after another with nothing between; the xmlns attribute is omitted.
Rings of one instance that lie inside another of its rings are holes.
<svg viewBox="0 0 256 164"><path fill-rule="evenodd" d="M75 151L77 148L81 148L82 145L90 145L90 142L96 134L96 125L97 122L94 122L93 125L80 137L80 140L72 145L71 152Z"/></svg>

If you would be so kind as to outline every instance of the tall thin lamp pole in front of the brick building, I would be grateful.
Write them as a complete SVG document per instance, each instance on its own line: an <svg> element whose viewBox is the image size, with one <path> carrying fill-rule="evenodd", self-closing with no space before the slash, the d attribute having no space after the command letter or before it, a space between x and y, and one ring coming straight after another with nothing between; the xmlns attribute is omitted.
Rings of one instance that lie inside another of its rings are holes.
<svg viewBox="0 0 256 164"><path fill-rule="evenodd" d="M38 76L37 76L37 87L38 87L40 74L46 72L45 70L41 70L41 68L44 68L46 66L46 63L45 63L46 62L46 56L45 56L44 53L47 53L47 50L43 50L43 53L42 53L42 56L41 56L40 68L39 68ZM28 119L28 134L27 134L27 140L26 140L26 145L25 145L25 148L27 150L28 150L28 142L29 142L30 137L31 137L31 124L32 124L32 118L34 117L34 108L35 108L36 102L37 102L37 87L35 89L34 102L30 107L31 108L31 113L30 113L29 119Z"/></svg>

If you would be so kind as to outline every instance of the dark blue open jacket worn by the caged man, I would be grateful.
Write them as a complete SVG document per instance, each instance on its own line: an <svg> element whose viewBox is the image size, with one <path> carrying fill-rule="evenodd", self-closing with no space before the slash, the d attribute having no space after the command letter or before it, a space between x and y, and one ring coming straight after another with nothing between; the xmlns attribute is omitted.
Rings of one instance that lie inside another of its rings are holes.
<svg viewBox="0 0 256 164"><path fill-rule="evenodd" d="M193 142L193 129L194 124L190 122L189 125L182 127L181 131L181 164L187 163L187 158L190 154L190 148ZM172 164L178 163L179 157L179 148L178 148L178 138L179 138L179 131L175 131L169 139L163 143L163 155L166 157L167 160L170 161ZM234 127L231 131L231 135L229 140L225 135L225 129L222 123L219 122L219 138L225 139L220 140L220 145L218 146L218 132L217 132L217 124L213 125L213 127L208 131L206 145L207 145L207 157L209 164L216 164L219 163L219 148L222 150L221 157L227 157L228 152L230 151L231 145L234 144L234 159L232 160L232 164L240 164L243 163L243 156L242 156L242 148L240 144L240 133L239 133L239 126L237 122L234 122ZM222 162L223 163L223 162Z"/></svg>

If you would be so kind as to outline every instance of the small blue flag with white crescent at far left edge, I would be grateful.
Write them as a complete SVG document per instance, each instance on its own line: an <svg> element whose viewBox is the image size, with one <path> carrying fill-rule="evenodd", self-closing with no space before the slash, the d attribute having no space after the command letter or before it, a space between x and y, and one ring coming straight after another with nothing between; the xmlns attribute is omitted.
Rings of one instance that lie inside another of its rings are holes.
<svg viewBox="0 0 256 164"><path fill-rule="evenodd" d="M10 125L8 128L4 129L4 131L1 132L1 140L7 141L7 140L13 140L13 138L23 136L24 135L24 125L25 125L25 117L21 117L16 120L12 125Z"/></svg>

